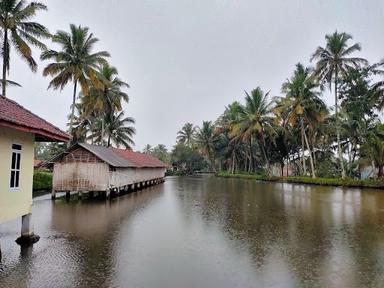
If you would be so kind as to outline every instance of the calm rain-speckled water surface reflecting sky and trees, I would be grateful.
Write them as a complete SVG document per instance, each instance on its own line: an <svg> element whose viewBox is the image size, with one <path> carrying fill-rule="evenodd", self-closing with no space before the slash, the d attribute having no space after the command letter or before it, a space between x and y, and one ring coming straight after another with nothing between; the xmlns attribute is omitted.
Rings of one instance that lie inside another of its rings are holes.
<svg viewBox="0 0 384 288"><path fill-rule="evenodd" d="M22 251L0 225L0 287L384 287L384 191L169 177L34 221Z"/></svg>

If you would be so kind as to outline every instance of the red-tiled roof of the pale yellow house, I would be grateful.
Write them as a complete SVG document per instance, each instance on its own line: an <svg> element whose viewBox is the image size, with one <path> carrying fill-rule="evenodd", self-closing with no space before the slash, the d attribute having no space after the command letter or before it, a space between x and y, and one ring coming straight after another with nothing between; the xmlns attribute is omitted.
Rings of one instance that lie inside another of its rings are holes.
<svg viewBox="0 0 384 288"><path fill-rule="evenodd" d="M70 136L64 131L3 96L0 96L0 126L33 133L36 141L70 140Z"/></svg>

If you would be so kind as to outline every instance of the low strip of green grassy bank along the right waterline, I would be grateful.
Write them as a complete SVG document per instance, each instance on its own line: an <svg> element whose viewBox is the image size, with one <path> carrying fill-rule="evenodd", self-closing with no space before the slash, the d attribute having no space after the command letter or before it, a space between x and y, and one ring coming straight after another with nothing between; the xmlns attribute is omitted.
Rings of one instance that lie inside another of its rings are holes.
<svg viewBox="0 0 384 288"><path fill-rule="evenodd" d="M263 175L254 174L230 174L227 172L219 172L216 174L218 177L224 178L241 178L252 179L259 181L272 181L272 182L286 182L286 183L298 183L298 184L313 184L323 186L343 186L343 187L358 187L358 188L377 188L384 189L384 179L341 179L341 178L311 178L304 176L291 176L291 177L267 177Z"/></svg>

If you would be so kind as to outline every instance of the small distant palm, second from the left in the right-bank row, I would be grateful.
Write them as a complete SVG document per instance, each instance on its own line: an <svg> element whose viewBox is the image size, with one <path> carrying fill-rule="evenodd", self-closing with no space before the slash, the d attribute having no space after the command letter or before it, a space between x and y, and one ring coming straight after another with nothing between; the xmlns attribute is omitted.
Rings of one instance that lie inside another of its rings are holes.
<svg viewBox="0 0 384 288"><path fill-rule="evenodd" d="M214 150L218 137L215 134L215 127L211 121L203 121L203 125L197 129L195 140L201 153L208 158L208 161L211 164L211 169L216 171Z"/></svg>

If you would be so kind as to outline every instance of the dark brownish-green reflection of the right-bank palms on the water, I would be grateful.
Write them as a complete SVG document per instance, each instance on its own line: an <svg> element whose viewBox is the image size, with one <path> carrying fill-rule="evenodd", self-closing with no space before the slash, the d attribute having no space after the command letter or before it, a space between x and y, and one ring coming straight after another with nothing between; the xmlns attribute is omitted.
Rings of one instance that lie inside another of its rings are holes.
<svg viewBox="0 0 384 288"><path fill-rule="evenodd" d="M218 224L235 249L247 249L255 269L266 269L278 253L297 285L383 282L384 193L236 179L193 183L183 209Z"/></svg>

